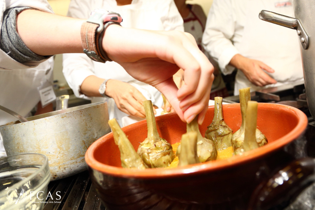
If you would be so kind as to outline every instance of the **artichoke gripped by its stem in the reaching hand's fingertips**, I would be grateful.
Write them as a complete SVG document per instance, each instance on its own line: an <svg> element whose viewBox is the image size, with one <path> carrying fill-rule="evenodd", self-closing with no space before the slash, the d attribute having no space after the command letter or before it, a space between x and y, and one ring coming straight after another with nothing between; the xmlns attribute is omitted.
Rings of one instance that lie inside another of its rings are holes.
<svg viewBox="0 0 315 210"><path fill-rule="evenodd" d="M197 155L200 162L215 160L217 157L217 150L212 140L203 138L199 126L198 115L191 123L187 123L187 133L197 132ZM181 145L177 148L176 155L180 158Z"/></svg>

